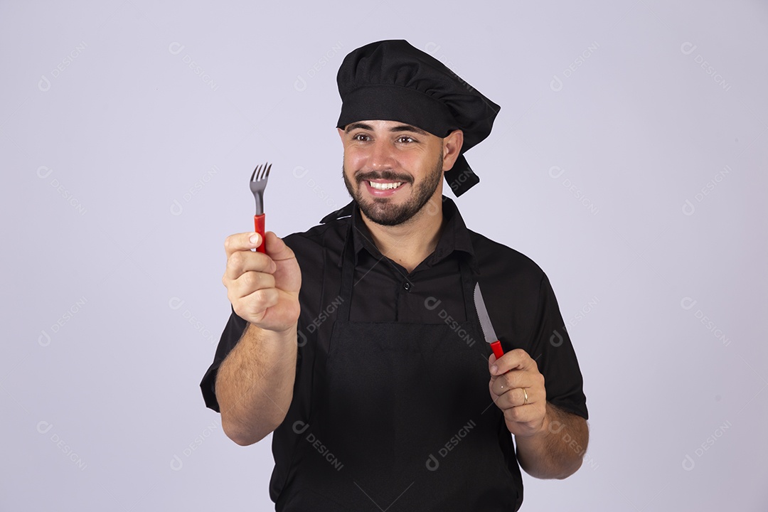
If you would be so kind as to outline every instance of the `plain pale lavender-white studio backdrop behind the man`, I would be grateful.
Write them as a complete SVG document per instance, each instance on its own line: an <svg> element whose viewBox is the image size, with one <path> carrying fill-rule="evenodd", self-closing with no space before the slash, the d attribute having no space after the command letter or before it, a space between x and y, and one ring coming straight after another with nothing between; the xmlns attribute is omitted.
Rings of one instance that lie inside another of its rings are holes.
<svg viewBox="0 0 768 512"><path fill-rule="evenodd" d="M197 387L223 239L265 160L268 229L347 202L336 70L406 38L502 105L457 203L584 373L584 467L523 510L766 510L766 4L283 5L0 5L0 509L272 508Z"/></svg>

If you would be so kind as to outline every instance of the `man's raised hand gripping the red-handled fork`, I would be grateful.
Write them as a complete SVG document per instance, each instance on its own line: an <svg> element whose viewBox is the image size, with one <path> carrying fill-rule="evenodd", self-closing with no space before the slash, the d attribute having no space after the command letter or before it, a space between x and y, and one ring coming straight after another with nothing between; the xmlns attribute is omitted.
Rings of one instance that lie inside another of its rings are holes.
<svg viewBox="0 0 768 512"><path fill-rule="evenodd" d="M299 320L301 269L293 251L275 233L266 233L266 253L257 233L227 236L227 270L221 279L240 318L260 329L284 332Z"/></svg>

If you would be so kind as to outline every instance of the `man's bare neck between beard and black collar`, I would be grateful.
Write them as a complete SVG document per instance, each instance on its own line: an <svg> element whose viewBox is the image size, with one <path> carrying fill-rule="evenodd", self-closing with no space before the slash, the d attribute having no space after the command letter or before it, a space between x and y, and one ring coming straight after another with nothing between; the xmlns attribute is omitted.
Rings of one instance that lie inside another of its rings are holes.
<svg viewBox="0 0 768 512"><path fill-rule="evenodd" d="M442 233L442 198L432 197L419 213L397 226L374 223L360 212L376 247L409 273L434 252Z"/></svg>

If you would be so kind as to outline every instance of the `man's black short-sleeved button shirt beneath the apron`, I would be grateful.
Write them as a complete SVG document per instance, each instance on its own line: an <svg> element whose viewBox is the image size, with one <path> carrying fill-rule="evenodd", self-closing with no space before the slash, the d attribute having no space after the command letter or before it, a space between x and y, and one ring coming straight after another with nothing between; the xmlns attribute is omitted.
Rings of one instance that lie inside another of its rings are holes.
<svg viewBox="0 0 768 512"><path fill-rule="evenodd" d="M284 238L301 267L299 350L293 401L273 434L275 469L270 496L277 500L288 476L300 435L291 428L310 415L312 362L316 350L327 352L336 310L343 249L352 223L355 286L349 319L359 322L442 323L465 320L459 262L466 259L482 288L496 335L505 352L522 348L545 377L547 400L564 411L588 418L581 371L564 328L557 300L545 273L528 257L467 229L455 204L443 197L443 231L435 251L411 273L382 256L359 210L350 203L306 233ZM237 345L247 322L232 312L200 388L205 403L219 411L214 384L219 365ZM456 343L483 343L455 329ZM488 352L490 353L490 351ZM490 375L488 375L490 379ZM508 454L514 457L515 454Z"/></svg>

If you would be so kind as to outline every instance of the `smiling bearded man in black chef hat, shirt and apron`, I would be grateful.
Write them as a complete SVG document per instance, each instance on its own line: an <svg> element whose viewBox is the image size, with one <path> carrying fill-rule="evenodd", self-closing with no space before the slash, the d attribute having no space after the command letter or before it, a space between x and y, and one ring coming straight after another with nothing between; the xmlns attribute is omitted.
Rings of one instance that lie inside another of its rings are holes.
<svg viewBox="0 0 768 512"><path fill-rule="evenodd" d="M206 403L238 444L274 432L276 510L518 510L519 467L568 477L588 428L547 277L442 196L478 183L463 154L499 107L406 41L353 51L338 82L353 202L285 241L227 238Z"/></svg>

